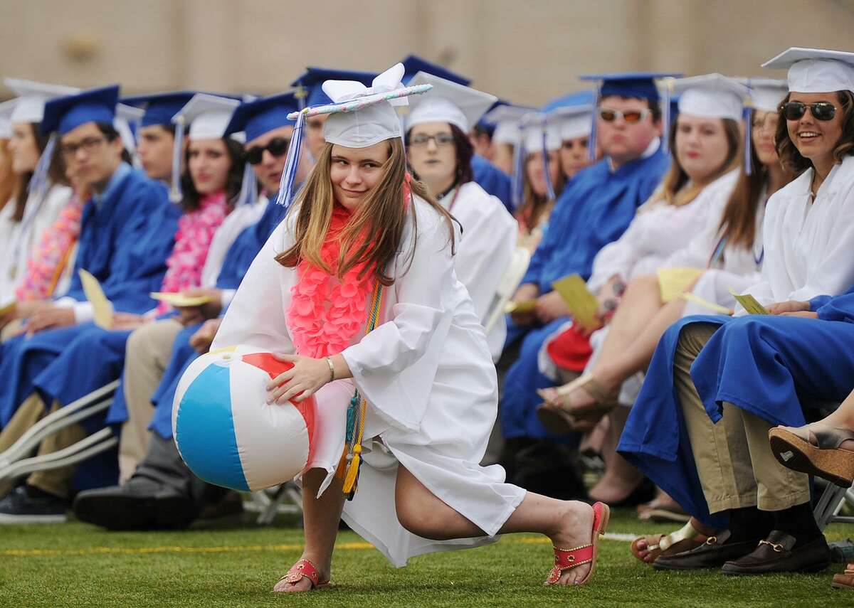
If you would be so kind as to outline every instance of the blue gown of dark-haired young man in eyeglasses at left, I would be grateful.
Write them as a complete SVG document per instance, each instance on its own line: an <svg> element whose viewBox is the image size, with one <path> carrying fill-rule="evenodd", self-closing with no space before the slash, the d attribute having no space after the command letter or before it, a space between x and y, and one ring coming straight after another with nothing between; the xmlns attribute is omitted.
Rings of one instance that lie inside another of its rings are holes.
<svg viewBox="0 0 854 608"><path fill-rule="evenodd" d="M67 295L85 301L77 272L83 268L101 282L104 294L117 311L138 314L149 310L155 305L149 293L162 284L180 213L180 208L169 201L162 184L126 165L120 166L101 199L86 203L75 272ZM0 427L8 424L20 403L38 389L36 377L91 328L91 324L73 325L42 331L31 338L18 336L3 343ZM85 354L85 349L79 352ZM60 377L52 379L50 385L73 386L79 382L80 377L72 371L79 373L78 365L90 365L92 373L97 375L102 361L86 354L82 361L58 365L54 369ZM64 395L55 395L53 389L44 397L48 402L60 398L63 405L71 401Z"/></svg>

